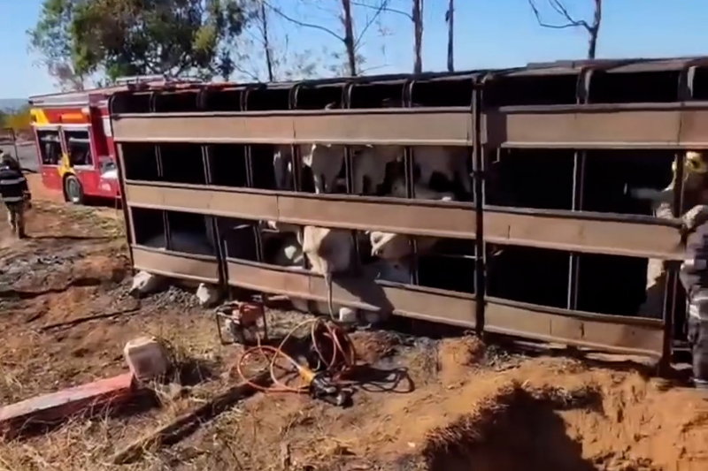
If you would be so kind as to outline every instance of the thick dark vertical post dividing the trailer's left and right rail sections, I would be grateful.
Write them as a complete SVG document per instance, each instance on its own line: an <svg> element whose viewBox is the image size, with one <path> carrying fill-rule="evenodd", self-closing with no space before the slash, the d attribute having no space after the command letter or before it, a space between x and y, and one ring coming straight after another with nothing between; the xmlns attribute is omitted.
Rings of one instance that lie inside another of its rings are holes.
<svg viewBox="0 0 708 471"><path fill-rule="evenodd" d="M482 82L483 85L483 82ZM481 107L482 87L473 79L472 120L473 120L473 185L474 185L474 329L479 337L484 335L484 311L486 283L487 247L484 242L484 180L486 179L484 164L486 148L481 139Z"/></svg>

